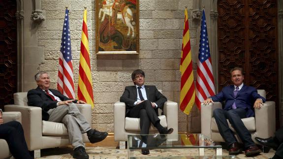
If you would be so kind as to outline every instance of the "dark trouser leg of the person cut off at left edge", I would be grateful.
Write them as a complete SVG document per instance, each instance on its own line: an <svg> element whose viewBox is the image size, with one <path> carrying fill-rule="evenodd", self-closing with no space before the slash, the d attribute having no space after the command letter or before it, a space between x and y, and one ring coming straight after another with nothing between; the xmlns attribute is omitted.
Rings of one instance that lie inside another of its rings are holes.
<svg viewBox="0 0 283 159"><path fill-rule="evenodd" d="M21 123L12 121L0 125L0 139L7 141L9 150L16 159L33 159L29 154Z"/></svg>

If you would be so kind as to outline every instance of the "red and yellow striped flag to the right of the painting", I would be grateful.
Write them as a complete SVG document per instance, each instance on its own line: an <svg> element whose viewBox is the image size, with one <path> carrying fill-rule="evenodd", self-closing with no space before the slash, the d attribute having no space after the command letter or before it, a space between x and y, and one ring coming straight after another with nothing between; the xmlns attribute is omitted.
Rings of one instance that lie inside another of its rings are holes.
<svg viewBox="0 0 283 159"><path fill-rule="evenodd" d="M181 52L181 93L180 109L187 115L194 104L195 90L193 83L192 60L189 40L189 20L188 10L185 9L185 23L183 32L182 52Z"/></svg>

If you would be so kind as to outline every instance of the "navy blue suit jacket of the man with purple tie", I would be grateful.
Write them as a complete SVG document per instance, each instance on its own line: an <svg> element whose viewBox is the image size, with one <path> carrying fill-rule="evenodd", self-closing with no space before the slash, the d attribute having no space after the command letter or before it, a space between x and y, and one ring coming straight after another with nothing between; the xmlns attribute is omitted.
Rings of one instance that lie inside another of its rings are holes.
<svg viewBox="0 0 283 159"><path fill-rule="evenodd" d="M265 98L260 96L254 87L243 85L236 97L233 94L234 90L234 85L224 87L219 94L211 96L211 98L213 101L225 101L224 110L232 109L232 104L235 101L237 108L244 108L247 111L247 118L254 116L253 103L257 98L261 98L265 102Z"/></svg>

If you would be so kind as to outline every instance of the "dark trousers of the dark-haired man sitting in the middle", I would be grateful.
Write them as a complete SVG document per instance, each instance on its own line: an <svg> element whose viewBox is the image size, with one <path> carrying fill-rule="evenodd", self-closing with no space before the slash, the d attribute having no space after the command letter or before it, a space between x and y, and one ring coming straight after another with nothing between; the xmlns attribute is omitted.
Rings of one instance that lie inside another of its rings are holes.
<svg viewBox="0 0 283 159"><path fill-rule="evenodd" d="M150 124L155 125L157 121L160 121L150 100L145 100L131 108L129 117L140 118L141 134L149 134Z"/></svg>

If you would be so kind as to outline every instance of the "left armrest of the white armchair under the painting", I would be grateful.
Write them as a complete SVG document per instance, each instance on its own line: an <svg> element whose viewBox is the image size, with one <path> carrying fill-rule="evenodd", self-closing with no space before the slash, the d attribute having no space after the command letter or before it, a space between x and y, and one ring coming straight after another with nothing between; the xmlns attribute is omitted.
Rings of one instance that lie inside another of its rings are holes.
<svg viewBox="0 0 283 159"><path fill-rule="evenodd" d="M114 103L114 140L125 141L126 104L117 101Z"/></svg>

